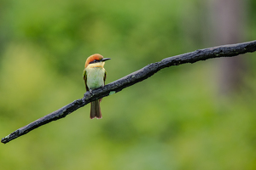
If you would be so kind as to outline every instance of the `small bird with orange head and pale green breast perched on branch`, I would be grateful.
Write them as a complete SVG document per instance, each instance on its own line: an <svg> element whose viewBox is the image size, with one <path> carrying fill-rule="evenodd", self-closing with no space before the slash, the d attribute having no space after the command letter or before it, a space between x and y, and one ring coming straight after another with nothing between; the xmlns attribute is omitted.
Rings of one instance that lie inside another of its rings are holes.
<svg viewBox="0 0 256 170"><path fill-rule="evenodd" d="M92 54L85 61L84 65L84 83L86 91L100 88L105 85L107 72L104 69L105 61L110 58L103 58L101 54ZM102 118L100 102L102 99L90 102L90 119Z"/></svg>

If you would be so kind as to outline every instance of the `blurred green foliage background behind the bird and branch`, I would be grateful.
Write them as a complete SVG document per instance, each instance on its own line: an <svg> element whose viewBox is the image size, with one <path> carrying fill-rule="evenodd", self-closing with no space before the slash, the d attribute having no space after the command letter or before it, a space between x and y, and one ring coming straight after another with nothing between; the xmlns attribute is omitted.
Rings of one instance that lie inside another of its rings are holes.
<svg viewBox="0 0 256 170"><path fill-rule="evenodd" d="M256 39L255 0L2 0L0 137L166 57ZM1 169L256 169L256 53L166 68L0 144Z"/></svg>

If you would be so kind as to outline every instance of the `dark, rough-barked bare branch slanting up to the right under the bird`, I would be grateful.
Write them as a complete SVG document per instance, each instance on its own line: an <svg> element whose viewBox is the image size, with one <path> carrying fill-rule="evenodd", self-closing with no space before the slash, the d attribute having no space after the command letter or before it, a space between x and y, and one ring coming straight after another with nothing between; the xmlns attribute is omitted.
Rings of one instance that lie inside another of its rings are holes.
<svg viewBox="0 0 256 170"><path fill-rule="evenodd" d="M218 46L214 48L205 48L199 49L191 53L180 54L174 57L169 57L162 59L160 62L152 63L143 67L141 70L135 71L126 77L120 78L117 81L111 82L104 86L103 88L96 88L92 91L92 94L89 92L84 94L83 99L77 99L71 104L62 107L61 109L50 113L42 118L39 118L37 121L32 122L25 127L20 127L14 133L10 133L8 136L4 137L1 142L3 144L8 143L9 141L20 137L26 133L29 133L37 127L61 119L68 114L76 111L80 107L89 104L91 101L96 99L101 99L110 94L115 94L121 91L123 88L127 88L137 82L141 82L148 77L151 77L157 71L160 71L163 68L172 66L172 65L182 65L185 63L195 63L200 60L219 58L219 57L232 57L238 54L245 54L248 52L256 51L256 41L252 42L243 42L232 45Z"/></svg>

